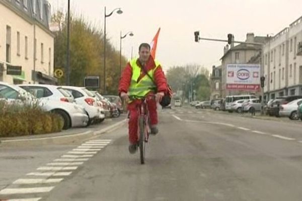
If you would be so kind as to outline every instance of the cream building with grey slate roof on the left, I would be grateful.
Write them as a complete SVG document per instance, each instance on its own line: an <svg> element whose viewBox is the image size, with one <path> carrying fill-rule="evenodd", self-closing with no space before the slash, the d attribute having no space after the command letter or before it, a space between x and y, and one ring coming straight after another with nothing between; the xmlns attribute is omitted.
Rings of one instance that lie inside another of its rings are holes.
<svg viewBox="0 0 302 201"><path fill-rule="evenodd" d="M0 81L56 82L50 10L46 0L0 1ZM14 66L21 66L21 75L11 75Z"/></svg>

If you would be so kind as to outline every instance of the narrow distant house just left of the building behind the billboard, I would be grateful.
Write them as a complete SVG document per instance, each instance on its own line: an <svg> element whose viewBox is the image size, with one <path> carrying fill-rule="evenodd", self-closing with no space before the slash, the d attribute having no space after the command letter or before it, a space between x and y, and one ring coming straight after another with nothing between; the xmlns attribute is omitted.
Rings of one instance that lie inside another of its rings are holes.
<svg viewBox="0 0 302 201"><path fill-rule="evenodd" d="M221 98L221 65L212 67L211 99Z"/></svg>

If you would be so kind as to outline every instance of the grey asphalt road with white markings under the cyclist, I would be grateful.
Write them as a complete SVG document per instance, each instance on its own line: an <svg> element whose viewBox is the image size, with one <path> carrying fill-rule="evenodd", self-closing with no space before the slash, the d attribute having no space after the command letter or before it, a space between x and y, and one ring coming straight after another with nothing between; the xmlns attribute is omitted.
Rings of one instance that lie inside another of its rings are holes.
<svg viewBox="0 0 302 201"><path fill-rule="evenodd" d="M28 160L32 166L20 173L7 171L6 178L13 176L2 182L0 199L301 200L302 122L193 108L159 113L160 133L150 139L146 164L128 153L126 126L83 144L33 147L27 156L42 150L43 158Z"/></svg>

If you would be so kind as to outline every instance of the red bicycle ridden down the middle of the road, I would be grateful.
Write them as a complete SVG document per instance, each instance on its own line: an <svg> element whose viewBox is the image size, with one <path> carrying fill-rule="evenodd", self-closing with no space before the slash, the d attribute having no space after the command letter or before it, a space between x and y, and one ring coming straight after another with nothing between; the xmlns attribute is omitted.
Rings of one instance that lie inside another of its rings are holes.
<svg viewBox="0 0 302 201"><path fill-rule="evenodd" d="M154 98L154 96L136 96L131 95L129 96L131 100L134 99L141 99L142 102L140 107L137 108L138 111L138 147L140 152L140 163L144 164L145 162L145 144L148 143L149 140L149 133L150 133L150 126L149 126L149 111L147 107L147 98Z"/></svg>

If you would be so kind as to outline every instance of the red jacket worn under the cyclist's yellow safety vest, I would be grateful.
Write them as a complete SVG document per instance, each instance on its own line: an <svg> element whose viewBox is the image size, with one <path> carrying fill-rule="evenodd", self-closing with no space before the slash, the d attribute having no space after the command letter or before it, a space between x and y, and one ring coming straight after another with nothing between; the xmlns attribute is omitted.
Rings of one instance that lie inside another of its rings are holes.
<svg viewBox="0 0 302 201"><path fill-rule="evenodd" d="M139 67L141 67L140 65L140 62L136 61L137 65ZM156 64L155 64L155 61L154 59L152 58L152 56L149 57L149 60L147 61L146 63L146 70L149 71L149 70L152 70L156 67ZM140 74L140 77L138 78L138 81L145 75L145 73L143 72L143 70L141 70L141 74ZM132 67L130 65L130 63L128 62L124 71L123 71L123 74L122 74L122 77L120 79L120 82L119 82L119 87L118 87L118 91L119 93L121 92L128 92L128 89L129 89L129 86L130 86L130 83L131 83L131 77L132 77ZM166 76L164 74L164 71L162 69L161 66L159 66L155 72L154 72L154 81L157 85L157 89L158 89L158 92L167 92L167 79L166 79Z"/></svg>

